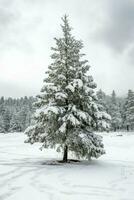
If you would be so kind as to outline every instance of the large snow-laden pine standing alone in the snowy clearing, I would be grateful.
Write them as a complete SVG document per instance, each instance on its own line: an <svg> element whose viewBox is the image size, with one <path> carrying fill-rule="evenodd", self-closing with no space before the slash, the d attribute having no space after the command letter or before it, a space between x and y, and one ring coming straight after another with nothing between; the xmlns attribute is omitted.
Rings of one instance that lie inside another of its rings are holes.
<svg viewBox="0 0 134 200"><path fill-rule="evenodd" d="M97 105L96 84L87 75L90 66L80 52L83 43L72 36L66 15L62 21L63 37L55 38L53 62L35 104L35 122L25 131L27 142L62 150L63 162L68 160L68 151L78 157L98 158L105 151L101 136L93 130L107 127L102 123L107 115Z"/></svg>

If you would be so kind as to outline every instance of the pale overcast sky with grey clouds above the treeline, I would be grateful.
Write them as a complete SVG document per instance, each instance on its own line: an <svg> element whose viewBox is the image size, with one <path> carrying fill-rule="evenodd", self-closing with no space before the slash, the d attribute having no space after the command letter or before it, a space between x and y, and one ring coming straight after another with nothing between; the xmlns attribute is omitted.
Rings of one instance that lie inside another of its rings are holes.
<svg viewBox="0 0 134 200"><path fill-rule="evenodd" d="M98 89L134 89L134 0L0 0L0 96L40 92L65 13Z"/></svg>

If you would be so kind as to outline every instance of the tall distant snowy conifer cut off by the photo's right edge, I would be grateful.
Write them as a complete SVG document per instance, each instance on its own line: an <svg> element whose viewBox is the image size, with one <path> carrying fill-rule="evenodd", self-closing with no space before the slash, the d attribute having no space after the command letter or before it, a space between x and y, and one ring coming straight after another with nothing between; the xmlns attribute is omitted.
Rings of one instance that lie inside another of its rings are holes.
<svg viewBox="0 0 134 200"><path fill-rule="evenodd" d="M124 127L127 130L134 129L134 92L128 90L128 96L124 105L124 114L123 114Z"/></svg>

